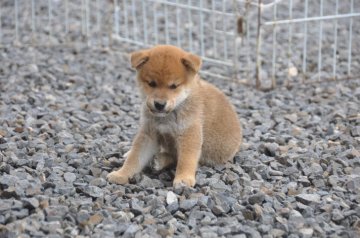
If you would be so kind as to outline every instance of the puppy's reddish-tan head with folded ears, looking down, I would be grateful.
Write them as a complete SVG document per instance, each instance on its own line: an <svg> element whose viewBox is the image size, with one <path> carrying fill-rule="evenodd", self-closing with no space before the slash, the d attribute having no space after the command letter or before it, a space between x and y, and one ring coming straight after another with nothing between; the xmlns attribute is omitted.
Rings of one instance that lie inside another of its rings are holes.
<svg viewBox="0 0 360 238"><path fill-rule="evenodd" d="M175 46L160 45L131 54L149 111L158 117L174 111L190 94L201 59Z"/></svg>

